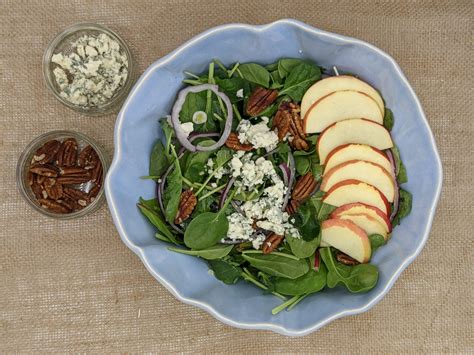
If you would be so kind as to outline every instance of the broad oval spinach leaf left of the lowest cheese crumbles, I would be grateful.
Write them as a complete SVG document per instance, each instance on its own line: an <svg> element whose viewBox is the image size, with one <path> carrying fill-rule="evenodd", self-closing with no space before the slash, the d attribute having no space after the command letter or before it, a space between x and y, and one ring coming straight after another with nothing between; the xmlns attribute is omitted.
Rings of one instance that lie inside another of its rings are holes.
<svg viewBox="0 0 474 355"><path fill-rule="evenodd" d="M184 231L184 244L188 248L202 250L224 238L229 230L229 222L221 211L196 216Z"/></svg>

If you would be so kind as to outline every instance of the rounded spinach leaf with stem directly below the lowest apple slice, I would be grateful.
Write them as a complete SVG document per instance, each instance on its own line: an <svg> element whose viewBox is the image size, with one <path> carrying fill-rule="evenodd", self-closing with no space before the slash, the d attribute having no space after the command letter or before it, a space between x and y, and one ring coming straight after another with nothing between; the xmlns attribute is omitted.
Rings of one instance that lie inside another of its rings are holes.
<svg viewBox="0 0 474 355"><path fill-rule="evenodd" d="M375 265L343 265L336 261L330 248L321 248L319 251L328 269L327 285L329 288L334 288L337 284L342 283L350 292L355 293L369 291L377 284L379 272Z"/></svg>

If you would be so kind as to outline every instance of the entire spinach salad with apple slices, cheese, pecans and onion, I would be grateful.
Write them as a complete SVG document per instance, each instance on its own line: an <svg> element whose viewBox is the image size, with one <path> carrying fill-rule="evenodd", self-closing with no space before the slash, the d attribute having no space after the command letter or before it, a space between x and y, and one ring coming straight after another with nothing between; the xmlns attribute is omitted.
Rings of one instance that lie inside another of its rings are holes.
<svg viewBox="0 0 474 355"><path fill-rule="evenodd" d="M281 298L273 314L324 288L371 290L371 257L411 210L392 112L334 72L293 58L185 72L144 177L156 238Z"/></svg>

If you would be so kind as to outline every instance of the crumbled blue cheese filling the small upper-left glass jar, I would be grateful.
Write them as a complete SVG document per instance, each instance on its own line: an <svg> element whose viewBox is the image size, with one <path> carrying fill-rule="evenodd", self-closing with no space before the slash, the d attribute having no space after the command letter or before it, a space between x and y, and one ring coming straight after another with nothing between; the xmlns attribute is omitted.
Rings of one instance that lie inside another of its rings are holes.
<svg viewBox="0 0 474 355"><path fill-rule="evenodd" d="M128 59L119 43L105 33L84 35L72 44L70 54L56 53L53 74L60 95L70 103L94 107L109 101L125 84Z"/></svg>

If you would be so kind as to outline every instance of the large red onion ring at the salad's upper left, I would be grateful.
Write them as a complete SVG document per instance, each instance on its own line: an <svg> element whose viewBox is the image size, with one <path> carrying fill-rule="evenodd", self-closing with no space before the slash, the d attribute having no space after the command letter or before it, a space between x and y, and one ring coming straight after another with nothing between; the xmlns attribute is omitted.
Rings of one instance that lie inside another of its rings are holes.
<svg viewBox="0 0 474 355"><path fill-rule="evenodd" d="M218 89L219 87L217 85L212 85L212 84L188 86L187 88L179 92L178 98L176 102L174 103L173 110L171 111L171 123L176 133L176 138L178 139L178 141L181 143L181 145L184 148L186 148L187 150L191 152L196 152L196 151L208 152L208 151L216 150L217 148L222 147L225 141L227 140L227 138L229 137L230 131L232 129L232 119L233 119L232 104L230 103L230 100L227 97L227 95L220 92ZM226 105L226 109L227 109L227 117L225 120L224 132L222 132L221 138L216 142L216 144L213 144L207 147L193 145L188 139L188 137L186 136L186 134L184 133L183 129L181 128L181 122L179 121L179 113L181 112L181 109L184 105L186 96L189 93L197 93L204 90L211 90L217 96L219 96L224 102L224 104Z"/></svg>

